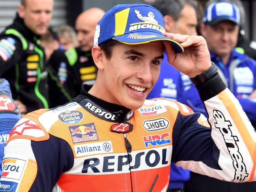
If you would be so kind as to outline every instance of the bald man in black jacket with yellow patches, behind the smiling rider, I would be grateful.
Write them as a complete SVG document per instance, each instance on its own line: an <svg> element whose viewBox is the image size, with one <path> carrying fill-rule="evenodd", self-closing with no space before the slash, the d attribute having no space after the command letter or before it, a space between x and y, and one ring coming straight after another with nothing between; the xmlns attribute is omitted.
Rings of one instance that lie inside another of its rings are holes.
<svg viewBox="0 0 256 192"><path fill-rule="evenodd" d="M95 82L96 67L91 50L95 27L104 13L102 9L93 7L78 15L75 28L79 47L66 50L64 56L50 63L58 71L60 83L63 84L69 98L79 95L83 84L93 85ZM66 101L58 100L51 103L59 105Z"/></svg>

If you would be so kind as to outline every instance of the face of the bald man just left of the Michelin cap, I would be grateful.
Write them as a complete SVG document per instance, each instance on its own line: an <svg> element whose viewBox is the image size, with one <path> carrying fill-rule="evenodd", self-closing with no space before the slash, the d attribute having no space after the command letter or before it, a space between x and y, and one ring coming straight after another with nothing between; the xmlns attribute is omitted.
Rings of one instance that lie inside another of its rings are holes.
<svg viewBox="0 0 256 192"><path fill-rule="evenodd" d="M90 51L93 47L95 26L94 21L90 19L80 17L76 21L77 41L84 51Z"/></svg>

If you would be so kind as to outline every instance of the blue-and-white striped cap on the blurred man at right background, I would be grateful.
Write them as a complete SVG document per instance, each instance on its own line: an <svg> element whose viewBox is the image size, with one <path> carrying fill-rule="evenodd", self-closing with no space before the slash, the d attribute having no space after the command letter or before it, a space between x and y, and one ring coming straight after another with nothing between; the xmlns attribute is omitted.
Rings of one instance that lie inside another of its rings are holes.
<svg viewBox="0 0 256 192"><path fill-rule="evenodd" d="M206 9L203 23L214 26L221 21L232 21L240 25L239 8L235 4L226 1L210 4Z"/></svg>

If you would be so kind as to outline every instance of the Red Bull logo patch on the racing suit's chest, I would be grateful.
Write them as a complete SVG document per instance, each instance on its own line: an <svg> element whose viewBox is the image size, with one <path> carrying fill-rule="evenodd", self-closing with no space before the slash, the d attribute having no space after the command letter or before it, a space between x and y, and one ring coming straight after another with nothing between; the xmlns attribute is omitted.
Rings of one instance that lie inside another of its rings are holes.
<svg viewBox="0 0 256 192"><path fill-rule="evenodd" d="M94 123L69 127L73 143L99 140Z"/></svg>

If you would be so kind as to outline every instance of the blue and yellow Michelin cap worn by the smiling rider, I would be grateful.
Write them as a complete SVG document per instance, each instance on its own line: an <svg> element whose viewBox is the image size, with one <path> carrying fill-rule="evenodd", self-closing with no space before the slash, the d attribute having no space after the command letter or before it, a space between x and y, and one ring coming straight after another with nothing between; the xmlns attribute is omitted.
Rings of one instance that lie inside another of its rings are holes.
<svg viewBox="0 0 256 192"><path fill-rule="evenodd" d="M165 40L170 41L175 52L182 53L183 47L174 39L165 37L163 32L163 15L154 7L146 4L116 5L97 24L94 45L109 39L129 45Z"/></svg>

